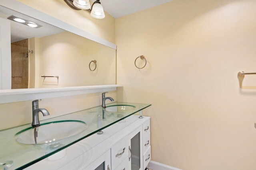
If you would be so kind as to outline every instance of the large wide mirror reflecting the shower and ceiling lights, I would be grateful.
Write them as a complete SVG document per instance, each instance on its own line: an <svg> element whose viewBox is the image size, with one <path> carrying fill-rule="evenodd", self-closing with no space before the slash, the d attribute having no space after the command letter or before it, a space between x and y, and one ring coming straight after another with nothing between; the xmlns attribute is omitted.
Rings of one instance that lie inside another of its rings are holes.
<svg viewBox="0 0 256 170"><path fill-rule="evenodd" d="M42 27L8 20L10 16ZM116 84L115 49L3 6L0 18L10 22L12 73L4 74L11 75L12 89Z"/></svg>

